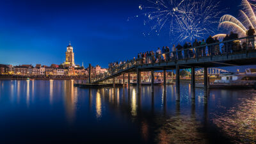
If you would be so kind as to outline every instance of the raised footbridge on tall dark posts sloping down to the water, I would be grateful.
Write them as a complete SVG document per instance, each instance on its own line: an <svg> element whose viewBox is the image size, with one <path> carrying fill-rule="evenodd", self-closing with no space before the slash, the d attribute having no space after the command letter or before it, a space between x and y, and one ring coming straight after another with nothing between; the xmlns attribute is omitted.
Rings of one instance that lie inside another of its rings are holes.
<svg viewBox="0 0 256 144"><path fill-rule="evenodd" d="M252 39L252 38L251 38ZM209 68L230 67L241 65L255 65L256 64L256 50L250 42L248 37L237 38L225 42L214 44L200 45L198 47L191 47L189 49L182 49L174 52L168 52L163 55L167 57L162 60L161 55L148 56L147 58L134 59L109 68L105 74L100 74L91 77L89 72L88 83L104 83L108 79L113 79L113 86L115 87L115 77L123 76L123 85L125 85L125 74L127 74L128 88L130 86L130 73L137 74L137 88L141 87L141 72L151 72L151 90L154 92L154 71L164 71L164 90L166 90L166 70L176 71L176 100L180 97L180 69L191 68L191 90L192 98L195 99L195 68L204 69L204 92L208 95ZM254 40L253 40L254 42ZM252 42L251 42L252 43ZM205 54L202 53L205 51ZM206 53L207 52L207 53ZM189 56L190 55L190 56ZM211 70L211 69L210 69ZM90 70L89 70L90 71ZM202 70L203 71L203 70ZM140 91L138 91L140 92Z"/></svg>

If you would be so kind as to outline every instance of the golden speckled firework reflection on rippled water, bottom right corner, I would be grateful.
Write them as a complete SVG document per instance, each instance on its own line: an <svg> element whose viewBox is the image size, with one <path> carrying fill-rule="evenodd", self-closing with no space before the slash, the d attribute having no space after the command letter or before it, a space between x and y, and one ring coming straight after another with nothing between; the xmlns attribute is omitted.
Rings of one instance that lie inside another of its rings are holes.
<svg viewBox="0 0 256 144"><path fill-rule="evenodd" d="M241 104L228 109L223 116L212 121L222 132L232 138L234 143L256 143L256 93L251 98L239 99Z"/></svg>

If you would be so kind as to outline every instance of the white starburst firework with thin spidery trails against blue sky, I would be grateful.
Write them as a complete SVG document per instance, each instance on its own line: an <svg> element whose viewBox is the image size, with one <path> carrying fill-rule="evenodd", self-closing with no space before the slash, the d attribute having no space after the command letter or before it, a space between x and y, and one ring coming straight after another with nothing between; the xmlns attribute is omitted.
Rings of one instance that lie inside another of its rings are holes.
<svg viewBox="0 0 256 144"><path fill-rule="evenodd" d="M144 25L159 35L167 32L172 40L195 40L211 35L218 25L221 10L213 0L144 0L138 8L142 11ZM150 33L144 35L149 35Z"/></svg>

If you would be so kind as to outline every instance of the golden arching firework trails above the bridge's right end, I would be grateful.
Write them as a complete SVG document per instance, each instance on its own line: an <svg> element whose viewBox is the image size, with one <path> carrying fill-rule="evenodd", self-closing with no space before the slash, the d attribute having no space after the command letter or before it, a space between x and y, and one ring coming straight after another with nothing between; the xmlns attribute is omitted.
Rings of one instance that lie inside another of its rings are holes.
<svg viewBox="0 0 256 144"><path fill-rule="evenodd" d="M229 31L234 31L238 33L239 36L244 37L246 36L246 31L249 26L252 28L256 28L256 17L255 17L255 0L243 0L242 1L242 10L241 13L241 20L236 19L236 17L232 15L223 15L220 19L219 28L227 29ZM224 34L216 35L218 38L223 38Z"/></svg>

